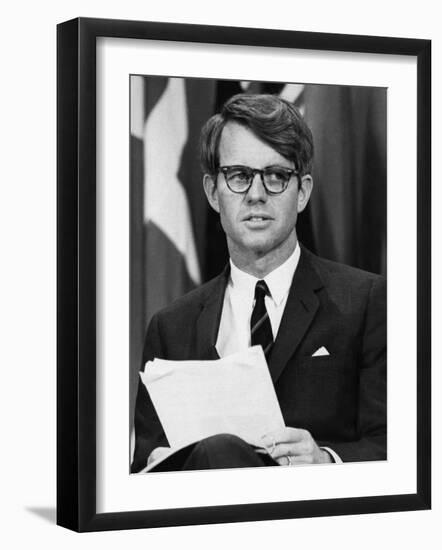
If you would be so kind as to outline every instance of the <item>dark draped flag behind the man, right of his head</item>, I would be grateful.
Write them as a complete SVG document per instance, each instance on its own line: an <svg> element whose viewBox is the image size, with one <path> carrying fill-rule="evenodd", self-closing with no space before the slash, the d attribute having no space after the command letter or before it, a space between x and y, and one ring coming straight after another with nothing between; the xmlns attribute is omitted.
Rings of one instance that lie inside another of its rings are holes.
<svg viewBox="0 0 442 550"><path fill-rule="evenodd" d="M304 96L315 145L313 249L385 275L387 90L309 85Z"/></svg>

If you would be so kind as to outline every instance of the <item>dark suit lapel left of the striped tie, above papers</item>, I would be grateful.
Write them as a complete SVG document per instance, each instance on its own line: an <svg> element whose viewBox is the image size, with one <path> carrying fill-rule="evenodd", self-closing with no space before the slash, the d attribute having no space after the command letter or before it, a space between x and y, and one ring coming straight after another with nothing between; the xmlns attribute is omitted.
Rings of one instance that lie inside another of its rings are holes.
<svg viewBox="0 0 442 550"><path fill-rule="evenodd" d="M201 304L201 313L196 321L196 357L198 359L219 359L215 344L228 276L229 266L215 279L212 291Z"/></svg>

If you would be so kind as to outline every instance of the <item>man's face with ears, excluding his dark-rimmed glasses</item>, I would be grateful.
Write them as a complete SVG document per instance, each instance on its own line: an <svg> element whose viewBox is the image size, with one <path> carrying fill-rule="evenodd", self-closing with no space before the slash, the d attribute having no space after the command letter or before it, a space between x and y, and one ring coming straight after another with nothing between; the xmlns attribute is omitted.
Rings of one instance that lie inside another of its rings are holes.
<svg viewBox="0 0 442 550"><path fill-rule="evenodd" d="M250 130L234 122L226 124L221 134L219 162L220 166L295 168ZM248 263L267 258L273 269L293 252L297 241L297 215L307 205L312 187L310 176L303 177L299 190L298 181L299 178L293 175L283 193L268 195L260 175L256 174L248 192L236 194L227 187L222 173L216 181L205 176L207 198L220 214L230 255L239 267L240 260Z"/></svg>

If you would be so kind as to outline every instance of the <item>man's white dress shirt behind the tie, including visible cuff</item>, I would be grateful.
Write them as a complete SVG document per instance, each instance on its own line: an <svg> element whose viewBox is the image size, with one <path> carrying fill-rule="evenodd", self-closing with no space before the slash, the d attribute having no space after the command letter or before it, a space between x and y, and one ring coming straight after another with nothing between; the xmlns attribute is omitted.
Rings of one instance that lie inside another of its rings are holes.
<svg viewBox="0 0 442 550"><path fill-rule="evenodd" d="M265 297L265 305L272 326L273 340L278 334L300 255L301 249L299 243L296 243L292 255L265 277L270 291L270 296ZM216 340L216 350L220 357L250 347L250 319L255 305L255 286L259 280L253 275L241 271L230 260L230 277L224 294L223 310ZM326 450L334 462L342 463L339 455L332 449L328 447L321 447L321 449Z"/></svg>

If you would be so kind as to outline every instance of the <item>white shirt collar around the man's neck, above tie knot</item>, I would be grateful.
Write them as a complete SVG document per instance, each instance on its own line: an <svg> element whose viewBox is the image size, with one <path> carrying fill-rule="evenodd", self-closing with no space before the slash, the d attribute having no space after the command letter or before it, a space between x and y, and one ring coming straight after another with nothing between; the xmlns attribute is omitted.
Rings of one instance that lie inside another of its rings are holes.
<svg viewBox="0 0 442 550"><path fill-rule="evenodd" d="M299 257L301 255L301 249L299 243L296 243L295 250L287 258L287 260L279 267L271 271L265 282L269 287L271 297L275 304L278 306L283 299L287 296L290 285L292 284L293 275L295 274L298 266ZM247 297L250 301L253 301L255 295L256 282L259 281L253 275L249 275L245 271L241 271L230 259L230 284L232 290L244 297Z"/></svg>

